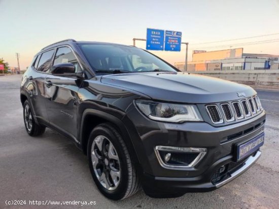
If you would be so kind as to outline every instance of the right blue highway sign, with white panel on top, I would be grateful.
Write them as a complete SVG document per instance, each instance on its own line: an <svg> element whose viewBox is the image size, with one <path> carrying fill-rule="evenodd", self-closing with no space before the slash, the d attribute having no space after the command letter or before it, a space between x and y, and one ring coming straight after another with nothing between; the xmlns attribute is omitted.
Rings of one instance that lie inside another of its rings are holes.
<svg viewBox="0 0 279 209"><path fill-rule="evenodd" d="M181 32L166 31L165 33L165 51L181 50Z"/></svg>

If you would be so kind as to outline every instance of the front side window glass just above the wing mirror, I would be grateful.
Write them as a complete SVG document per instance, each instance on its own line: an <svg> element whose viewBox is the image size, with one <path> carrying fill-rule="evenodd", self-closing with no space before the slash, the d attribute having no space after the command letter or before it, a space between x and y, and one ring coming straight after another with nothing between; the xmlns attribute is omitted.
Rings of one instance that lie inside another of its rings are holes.
<svg viewBox="0 0 279 209"><path fill-rule="evenodd" d="M60 63L72 63L76 67L76 72L81 72L80 65L69 47L58 48L53 65Z"/></svg>

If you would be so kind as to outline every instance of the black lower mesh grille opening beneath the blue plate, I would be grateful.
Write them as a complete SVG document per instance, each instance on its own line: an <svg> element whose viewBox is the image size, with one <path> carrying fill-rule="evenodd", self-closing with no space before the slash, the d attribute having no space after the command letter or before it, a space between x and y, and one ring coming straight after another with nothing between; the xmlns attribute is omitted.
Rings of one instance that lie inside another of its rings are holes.
<svg viewBox="0 0 279 209"><path fill-rule="evenodd" d="M222 167L219 168L211 178L212 183L218 184L219 182L225 180L227 177L229 177L230 172L242 167L249 157L250 156L246 157L245 159L239 160L238 162L230 162L226 164L225 169L223 168L224 170L223 172L222 172Z"/></svg>

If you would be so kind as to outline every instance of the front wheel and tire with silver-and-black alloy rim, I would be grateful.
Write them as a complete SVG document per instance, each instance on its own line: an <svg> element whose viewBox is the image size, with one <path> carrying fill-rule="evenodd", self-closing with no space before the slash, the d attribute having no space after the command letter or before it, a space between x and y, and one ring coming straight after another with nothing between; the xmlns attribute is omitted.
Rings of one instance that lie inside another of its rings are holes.
<svg viewBox="0 0 279 209"><path fill-rule="evenodd" d="M87 154L93 180L104 196L121 200L140 190L140 181L126 144L110 123L92 130Z"/></svg>

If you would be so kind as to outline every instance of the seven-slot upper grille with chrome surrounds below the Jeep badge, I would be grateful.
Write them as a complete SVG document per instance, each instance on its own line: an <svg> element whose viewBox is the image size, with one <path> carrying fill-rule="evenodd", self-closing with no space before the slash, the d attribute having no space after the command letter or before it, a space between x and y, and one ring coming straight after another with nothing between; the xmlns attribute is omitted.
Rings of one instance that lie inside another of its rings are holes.
<svg viewBox="0 0 279 209"><path fill-rule="evenodd" d="M226 103L206 104L205 108L214 124L222 124L224 120L226 122L238 121L251 117L252 114L256 115L263 110L257 96Z"/></svg>

